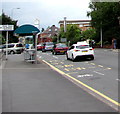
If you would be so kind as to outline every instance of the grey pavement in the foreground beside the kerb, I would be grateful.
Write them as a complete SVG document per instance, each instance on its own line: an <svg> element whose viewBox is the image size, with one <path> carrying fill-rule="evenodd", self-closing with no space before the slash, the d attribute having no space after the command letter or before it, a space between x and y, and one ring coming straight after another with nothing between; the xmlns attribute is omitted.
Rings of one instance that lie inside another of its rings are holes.
<svg viewBox="0 0 120 114"><path fill-rule="evenodd" d="M1 71L2 112L116 112L41 60L9 55Z"/></svg>

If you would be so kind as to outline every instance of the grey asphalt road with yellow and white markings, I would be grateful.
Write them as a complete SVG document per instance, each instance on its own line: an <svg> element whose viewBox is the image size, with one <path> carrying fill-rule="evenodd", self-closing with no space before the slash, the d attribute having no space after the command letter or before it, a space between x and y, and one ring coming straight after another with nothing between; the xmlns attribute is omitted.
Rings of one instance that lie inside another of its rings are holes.
<svg viewBox="0 0 120 114"><path fill-rule="evenodd" d="M118 104L118 53L110 49L95 49L95 60L72 62L65 55L38 52L48 64L92 88L96 97L109 105ZM83 84L82 84L83 85ZM81 85L80 85L81 86ZM89 91L89 89L88 89ZM96 92L97 91L97 92ZM100 93L99 93L100 92ZM97 95L100 96L97 96ZM107 98L106 98L107 97ZM114 107L114 106L113 106ZM117 107L116 107L117 108Z"/></svg>

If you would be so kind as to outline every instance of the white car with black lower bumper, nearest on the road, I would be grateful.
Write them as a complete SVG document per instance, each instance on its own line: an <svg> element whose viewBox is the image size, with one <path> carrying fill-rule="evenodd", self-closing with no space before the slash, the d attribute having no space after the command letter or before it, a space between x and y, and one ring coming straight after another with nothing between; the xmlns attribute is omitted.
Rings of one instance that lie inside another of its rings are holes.
<svg viewBox="0 0 120 114"><path fill-rule="evenodd" d="M77 58L90 58L94 60L94 49L86 42L78 42L69 48L66 57L67 59L72 59L72 61Z"/></svg>

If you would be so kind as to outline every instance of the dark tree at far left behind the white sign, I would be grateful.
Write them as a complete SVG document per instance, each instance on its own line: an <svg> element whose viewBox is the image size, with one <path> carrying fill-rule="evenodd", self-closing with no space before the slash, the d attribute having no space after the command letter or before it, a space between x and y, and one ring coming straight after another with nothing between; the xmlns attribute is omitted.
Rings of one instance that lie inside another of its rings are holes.
<svg viewBox="0 0 120 114"><path fill-rule="evenodd" d="M5 15L4 13L2 13L2 15L0 16L0 22L2 23L2 25L7 25L7 24L14 25L14 29L18 27L17 21L12 20L10 17ZM6 31L3 31L1 34L2 34L2 38L6 37ZM9 31L9 43L12 43L12 42L18 42L18 38L13 36L13 31Z"/></svg>

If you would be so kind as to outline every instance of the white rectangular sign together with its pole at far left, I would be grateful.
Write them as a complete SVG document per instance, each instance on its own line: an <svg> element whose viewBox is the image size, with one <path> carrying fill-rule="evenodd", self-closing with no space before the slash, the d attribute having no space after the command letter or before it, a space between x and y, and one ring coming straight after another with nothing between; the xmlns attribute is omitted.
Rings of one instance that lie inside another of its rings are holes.
<svg viewBox="0 0 120 114"><path fill-rule="evenodd" d="M6 60L8 59L8 31L13 31L14 25L0 25L0 31L6 31Z"/></svg>

